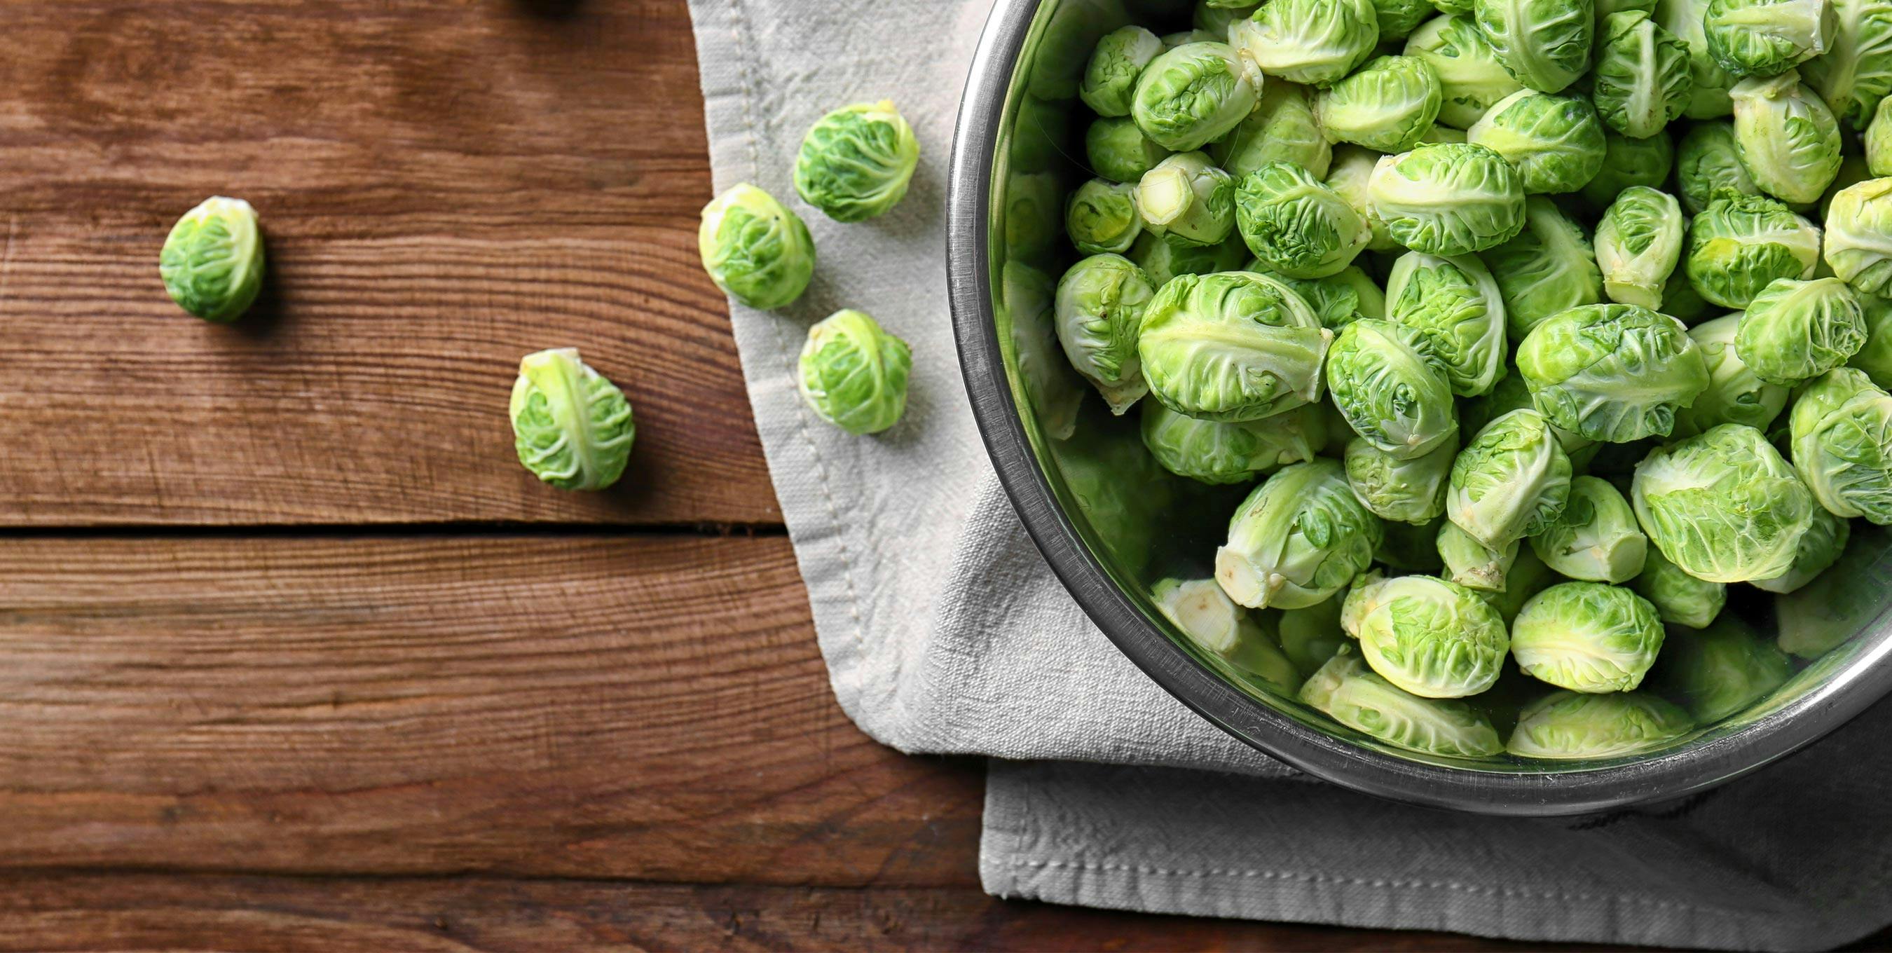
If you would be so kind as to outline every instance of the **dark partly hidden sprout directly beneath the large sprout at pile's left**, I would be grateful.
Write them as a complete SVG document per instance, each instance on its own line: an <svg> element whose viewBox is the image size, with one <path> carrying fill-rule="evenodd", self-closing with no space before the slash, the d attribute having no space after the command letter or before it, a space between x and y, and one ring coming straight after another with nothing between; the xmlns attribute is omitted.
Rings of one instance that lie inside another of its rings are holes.
<svg viewBox="0 0 1892 953"><path fill-rule="evenodd" d="M1328 444L1326 410L1304 405L1241 424L1217 424L1143 403L1143 446L1169 473L1205 484L1245 484Z"/></svg>

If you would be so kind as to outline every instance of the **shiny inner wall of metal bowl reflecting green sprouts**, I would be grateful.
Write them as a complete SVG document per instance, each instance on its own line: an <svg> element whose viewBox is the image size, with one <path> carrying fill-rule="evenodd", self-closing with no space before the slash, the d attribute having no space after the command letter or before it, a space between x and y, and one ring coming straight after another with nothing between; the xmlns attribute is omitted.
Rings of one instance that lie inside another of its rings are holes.
<svg viewBox="0 0 1892 953"><path fill-rule="evenodd" d="M1171 0L1133 4L1042 0L1016 8L999 4L993 25L988 26L980 62L974 66L974 83L969 87L969 106L961 119L961 138L967 138L965 123L976 121L980 106L972 98L1003 96L1003 104L991 102L999 117L997 129L986 142L974 142L980 155L972 161L982 161L984 168L967 174L988 176L986 187L980 189L986 261L972 282L990 299L980 303L990 304L990 327L984 333L993 337L1003 363L999 380L1008 399L991 403L980 401L974 393L974 405L982 412L982 427L995 458L1001 458L999 444L1005 437L993 435L995 427L986 414L991 407L1003 405L1005 412L1016 416L1014 433L1022 435L1025 450L1018 456L1018 467L1033 469L1035 478L1020 480L1012 473L1008 488L1025 514L1027 528L1052 556L1060 575L1067 582L1078 577L1073 590L1078 590L1080 603L1097 615L1095 599L1086 599L1082 592L1082 579L1107 580L1131 611L1128 626L1145 626L1160 633L1162 652L1171 656L1165 662L1131 652L1131 658L1147 669L1169 667L1173 662L1171 671L1213 673L1220 684L1234 690L1235 705L1245 705L1247 711L1232 711L1226 698L1205 700L1203 690L1179 688L1177 679L1158 677L1158 681L1230 732L1275 754L1285 754L1283 734L1294 734L1294 726L1300 726L1302 732L1338 743L1336 751L1343 749L1379 766L1393 762L1394 770L1423 768L1421 773L1434 775L1434 770L1483 775L1489 781L1478 790L1489 790L1500 800L1508 796L1504 775L1517 783L1597 771L1642 771L1638 777L1656 777L1656 783L1612 788L1618 794L1585 800L1587 807L1612 800L1678 794L1690 787L1733 777L1818 737L1884 694L1886 669L1892 664L1875 666L1875 662L1892 652L1892 626L1879 622L1892 605L1892 584L1888 584L1892 535L1864 526L1856 528L1841 563L1794 596L1777 598L1750 586L1729 586L1726 613L1748 622L1761 641L1778 641L1794 652L1796 671L1784 684L1733 715L1699 724L1665 749L1629 758L1463 760L1391 747L1332 722L1222 656L1201 650L1164 618L1152 601L1152 588L1164 579L1211 575L1211 560L1226 537L1228 516L1249 488L1211 488L1160 469L1143 448L1137 410L1122 418L1111 416L1103 401L1065 361L1052 329L1052 303L1058 278L1077 259L1063 233L1063 199L1077 183L1090 178L1082 140L1092 113L1077 98L1086 57L1099 36L1126 23L1186 28L1188 9L1190 4ZM984 93L976 74L982 68L995 74ZM961 144L961 149L965 147ZM965 310L963 304L959 301L955 308ZM986 320L986 308L980 312L980 320ZM959 320L965 337L969 329L965 318ZM965 342L961 346L965 348ZM969 354L971 359L976 357ZM971 382L974 369L969 367L967 373ZM1001 475L1010 469L1005 459L999 459L999 465ZM1033 507L1022 499L1041 492L1048 495L1048 509L1056 512L1033 514ZM1060 537L1056 546L1046 545L1052 535ZM1063 545L1073 545L1078 558L1060 560L1052 550ZM1118 645L1126 645L1124 628L1122 616L1105 624L1105 632ZM1688 632L1671 630L1671 639L1678 637L1688 637ZM1705 702L1671 684L1661 662L1648 684L1682 707L1699 707ZM1517 709L1548 692L1550 686L1508 666L1498 686L1474 702L1504 736L1515 722ZM1661 779L1667 766L1676 766L1673 783ZM1317 773L1334 773L1321 764L1309 768ZM1559 807L1550 804L1542 790L1519 788L1517 796L1544 807L1546 813L1557 811ZM1400 794L1396 787L1379 792Z"/></svg>

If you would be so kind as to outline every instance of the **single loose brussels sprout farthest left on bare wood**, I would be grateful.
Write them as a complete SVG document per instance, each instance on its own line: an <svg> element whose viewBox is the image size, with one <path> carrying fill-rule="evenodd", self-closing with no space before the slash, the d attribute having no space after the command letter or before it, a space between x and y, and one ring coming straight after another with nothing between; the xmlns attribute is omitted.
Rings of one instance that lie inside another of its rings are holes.
<svg viewBox="0 0 1892 953"><path fill-rule="evenodd" d="M216 323L242 318L263 291L255 208L242 199L204 199L170 229L157 272L170 301L185 312Z"/></svg>

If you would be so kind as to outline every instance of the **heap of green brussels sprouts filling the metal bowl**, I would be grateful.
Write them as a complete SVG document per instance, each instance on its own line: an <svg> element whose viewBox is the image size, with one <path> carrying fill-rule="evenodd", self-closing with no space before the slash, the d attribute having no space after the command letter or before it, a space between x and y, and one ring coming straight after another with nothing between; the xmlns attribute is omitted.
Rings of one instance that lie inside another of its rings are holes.
<svg viewBox="0 0 1892 953"><path fill-rule="evenodd" d="M1472 758L1650 751L1833 645L1792 603L1892 524L1892 0L1175 26L1090 53L1054 323L1164 469L1258 482L1181 630Z"/></svg>

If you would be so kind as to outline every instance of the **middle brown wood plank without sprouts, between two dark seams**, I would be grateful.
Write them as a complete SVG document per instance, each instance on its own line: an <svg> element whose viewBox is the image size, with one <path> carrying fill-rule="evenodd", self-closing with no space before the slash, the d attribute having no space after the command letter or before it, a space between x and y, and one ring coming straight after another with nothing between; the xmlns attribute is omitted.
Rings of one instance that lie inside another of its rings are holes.
<svg viewBox="0 0 1892 953"><path fill-rule="evenodd" d="M0 868L976 883L787 539L15 539Z"/></svg>

